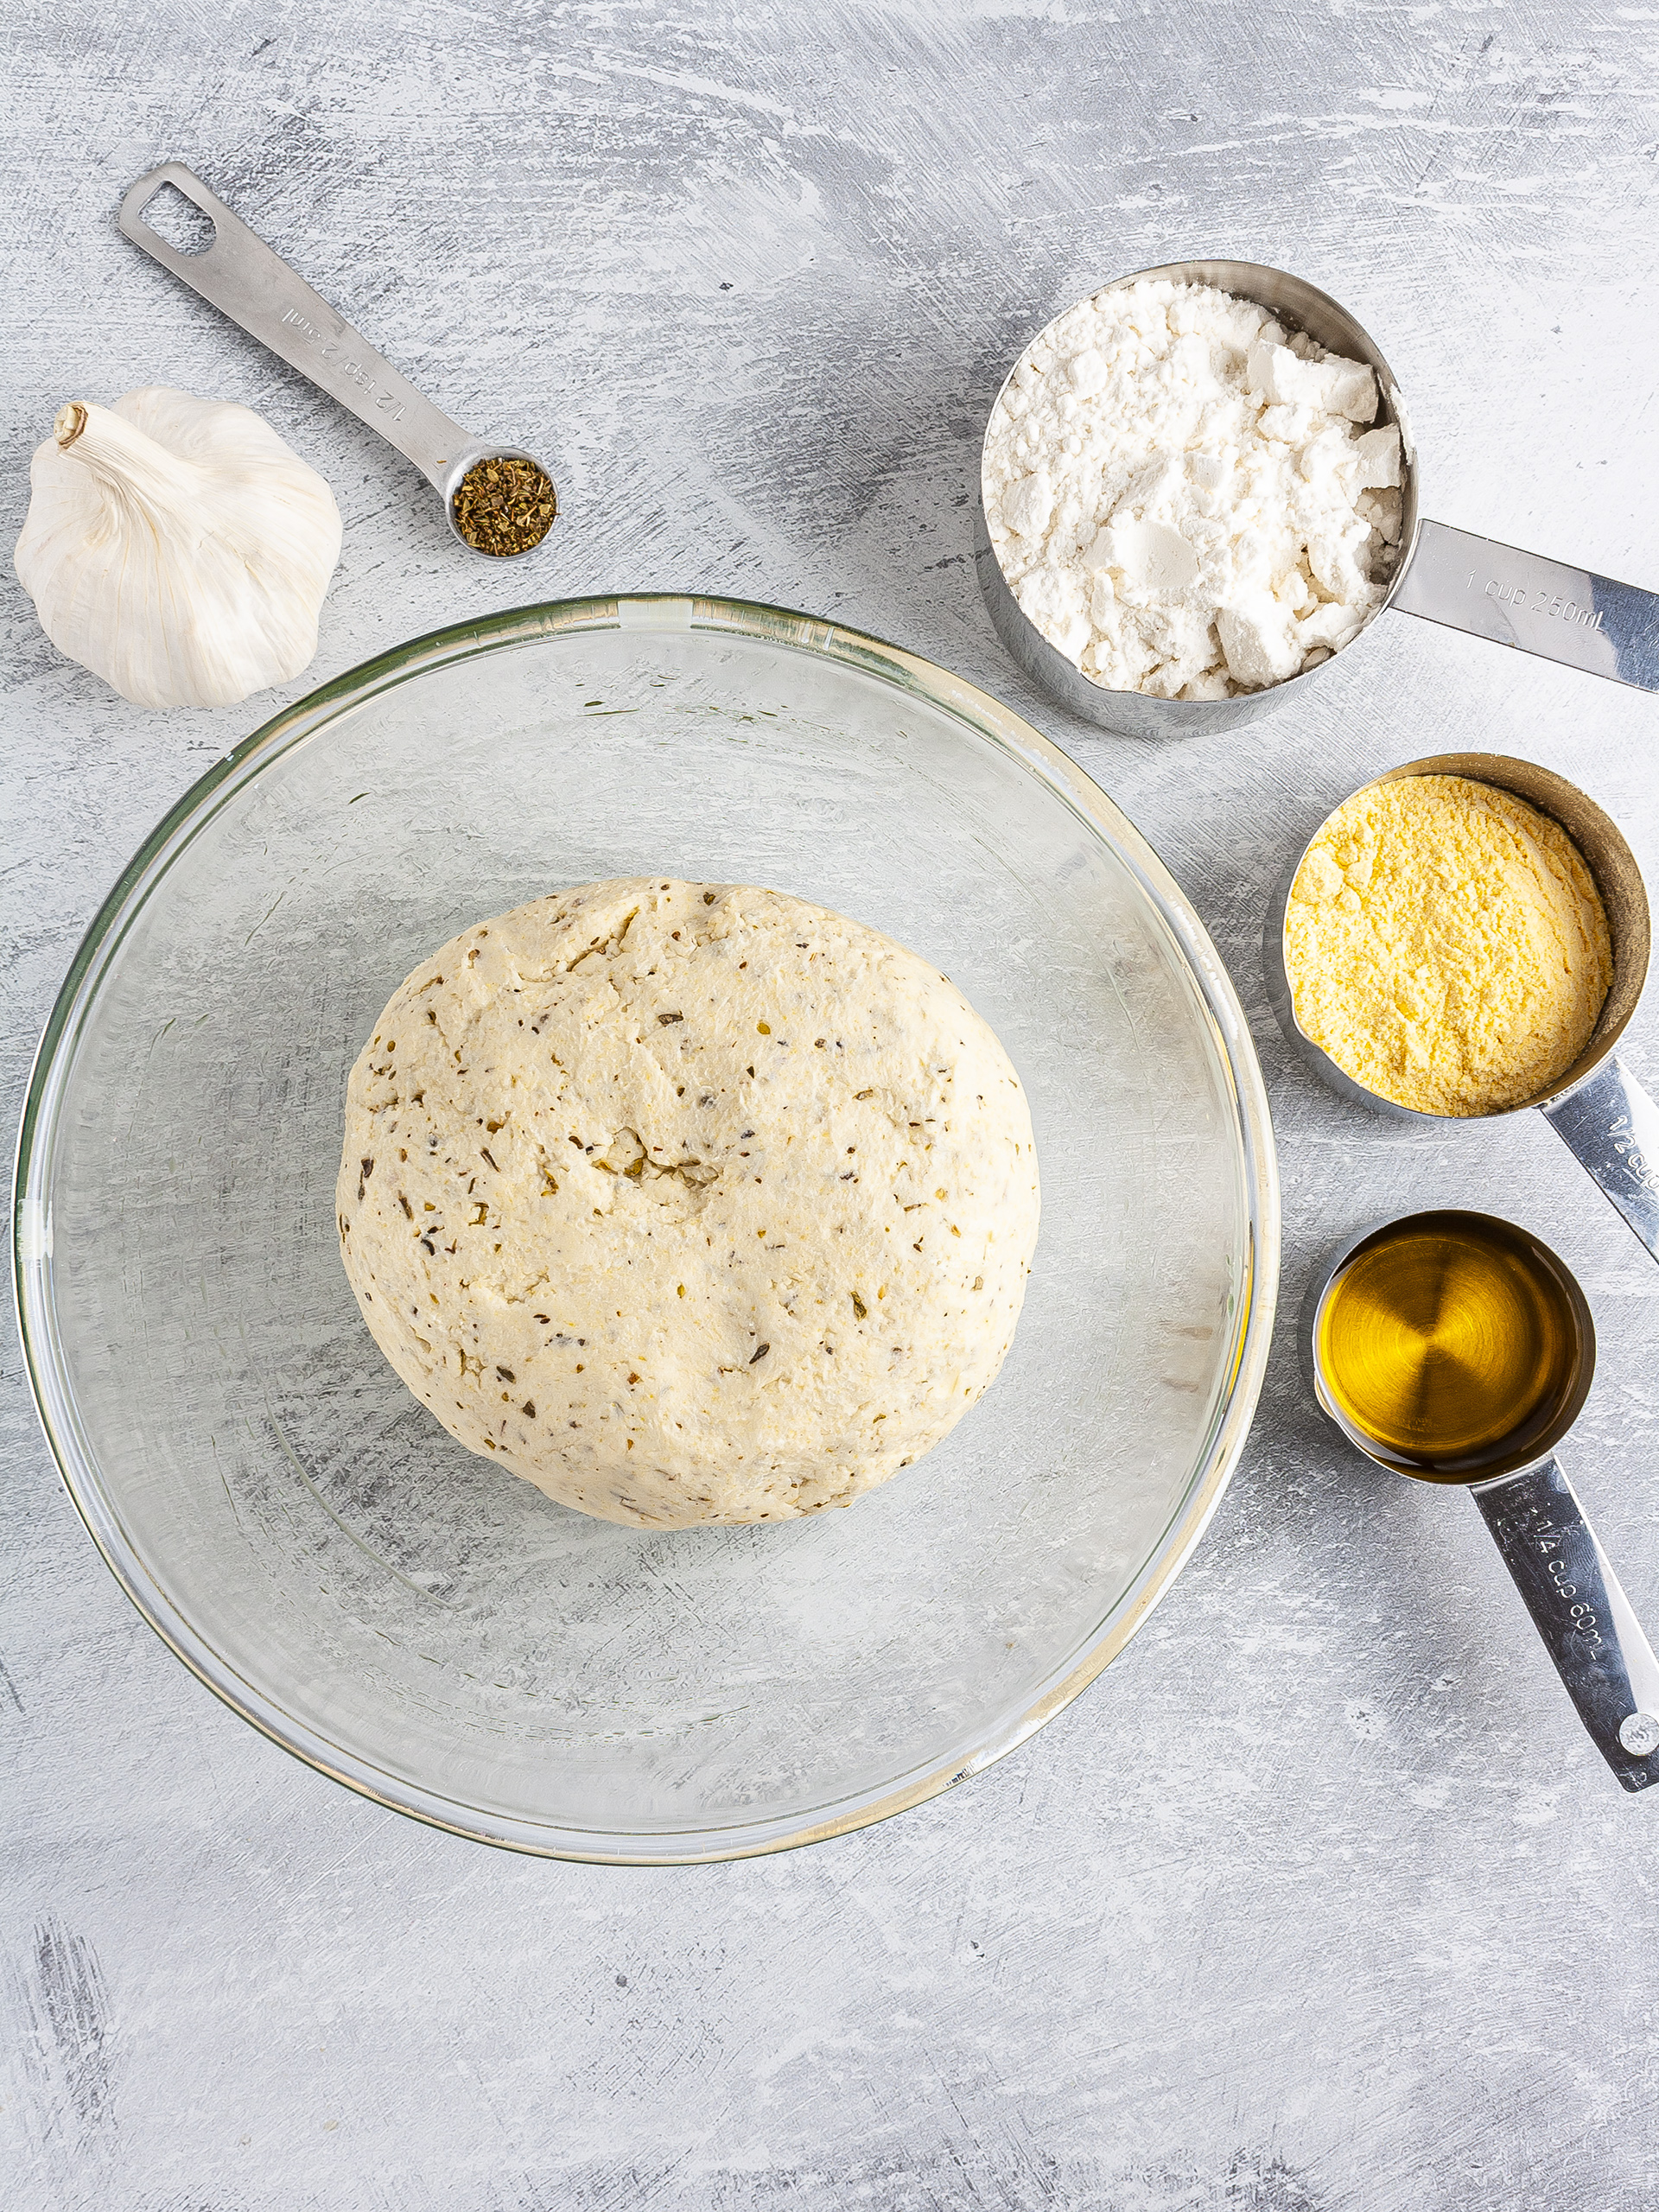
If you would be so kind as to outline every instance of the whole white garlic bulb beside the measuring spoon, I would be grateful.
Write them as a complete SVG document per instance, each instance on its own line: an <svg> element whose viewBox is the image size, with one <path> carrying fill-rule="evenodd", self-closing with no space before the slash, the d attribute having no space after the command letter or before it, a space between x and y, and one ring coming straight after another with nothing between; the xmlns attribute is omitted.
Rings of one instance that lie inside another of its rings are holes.
<svg viewBox="0 0 1659 2212"><path fill-rule="evenodd" d="M71 400L29 482L13 564L40 626L135 706L234 706L316 653L341 511L250 407Z"/></svg>

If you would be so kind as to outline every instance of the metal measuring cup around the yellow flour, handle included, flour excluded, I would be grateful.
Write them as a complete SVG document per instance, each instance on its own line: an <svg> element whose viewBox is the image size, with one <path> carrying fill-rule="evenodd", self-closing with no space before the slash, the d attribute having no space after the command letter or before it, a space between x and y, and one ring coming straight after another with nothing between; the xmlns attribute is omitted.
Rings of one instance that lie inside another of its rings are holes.
<svg viewBox="0 0 1659 2212"><path fill-rule="evenodd" d="M1537 1106L1577 1164L1595 1177L1601 1194L1619 1208L1641 1243L1659 1259L1659 1106L1615 1053L1615 1044L1637 1011L1652 947L1648 889L1635 854L1613 823L1613 816L1604 814L1566 776L1557 776L1535 761L1515 761L1504 752L1438 752L1422 761L1407 761L1405 768L1391 768L1385 776L1371 776L1360 790L1369 790L1371 783L1398 783L1402 776L1469 776L1471 783L1495 783L1500 790L1515 792L1517 799L1535 805L1540 814L1557 821L1584 854L1608 916L1613 989L1590 1031L1590 1042L1573 1066L1564 1075L1557 1075L1537 1097L1526 1099L1522 1106L1498 1110L1526 1113L1531 1106ZM1329 814L1325 821L1329 821ZM1369 1106L1371 1113L1391 1115L1396 1121L1429 1121L1436 1128L1493 1119L1493 1115L1420 1113L1416 1106L1400 1106L1376 1091L1367 1091L1345 1068L1338 1068L1329 1053L1314 1044L1296 1020L1290 971L1285 967L1285 911L1296 869L1303 865L1307 847L1323 827L1325 823L1314 830L1314 836L1296 854L1263 922L1261 962L1267 973L1267 998L1279 1015L1279 1026L1314 1075L1345 1099Z"/></svg>

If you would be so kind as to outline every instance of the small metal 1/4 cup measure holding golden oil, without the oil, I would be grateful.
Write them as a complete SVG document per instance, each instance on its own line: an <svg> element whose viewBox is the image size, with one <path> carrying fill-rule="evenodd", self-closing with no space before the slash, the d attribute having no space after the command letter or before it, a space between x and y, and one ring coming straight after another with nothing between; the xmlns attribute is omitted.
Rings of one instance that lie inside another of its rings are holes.
<svg viewBox="0 0 1659 2212"><path fill-rule="evenodd" d="M1327 1369L1321 1323L1343 1272L1363 1261L1380 1239L1458 1223L1495 1225L1528 1248L1557 1285L1577 1345L1555 1402L1542 1407L1517 1438L1495 1440L1475 1464L1460 1471L1425 1475L1343 1409ZM1566 1263L1526 1230L1513 1221L1500 1223L1493 1214L1447 1210L1374 1221L1314 1272L1301 1314L1301 1354L1321 1411L1356 1451L1391 1473L1458 1484L1473 1495L1590 1741L1626 1790L1659 1783L1659 1659L1555 1458L1595 1371L1595 1323Z"/></svg>

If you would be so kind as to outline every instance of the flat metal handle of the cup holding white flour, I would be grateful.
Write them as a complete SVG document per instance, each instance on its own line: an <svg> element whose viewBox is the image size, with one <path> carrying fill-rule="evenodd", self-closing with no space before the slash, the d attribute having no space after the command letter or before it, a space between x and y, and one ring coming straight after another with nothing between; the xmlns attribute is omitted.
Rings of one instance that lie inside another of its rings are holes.
<svg viewBox="0 0 1659 2212"><path fill-rule="evenodd" d="M1659 593L1422 522L1394 606L1546 661L1659 690Z"/></svg>

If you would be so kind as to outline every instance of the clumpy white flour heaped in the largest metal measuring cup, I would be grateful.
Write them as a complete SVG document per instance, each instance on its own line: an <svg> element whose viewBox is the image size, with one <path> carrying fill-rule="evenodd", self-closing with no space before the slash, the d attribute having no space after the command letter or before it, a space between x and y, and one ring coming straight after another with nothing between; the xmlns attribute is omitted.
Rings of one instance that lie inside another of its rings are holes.
<svg viewBox="0 0 1659 2212"><path fill-rule="evenodd" d="M1400 431L1360 361L1212 285L1141 279L1051 323L984 445L1024 615L1106 690L1225 699L1340 650L1400 546Z"/></svg>

